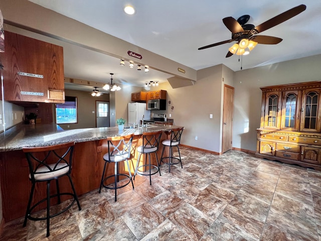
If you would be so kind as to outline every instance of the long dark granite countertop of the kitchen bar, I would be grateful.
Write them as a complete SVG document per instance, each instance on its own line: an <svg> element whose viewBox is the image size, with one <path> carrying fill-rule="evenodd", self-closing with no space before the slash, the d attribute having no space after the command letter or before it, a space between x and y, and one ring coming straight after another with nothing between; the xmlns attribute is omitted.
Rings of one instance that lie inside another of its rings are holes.
<svg viewBox="0 0 321 241"><path fill-rule="evenodd" d="M42 147L67 142L88 142L107 137L141 135L142 132L170 131L178 126L152 124L147 128L124 129L118 127L86 128L63 130L56 124L19 124L6 133L0 134L0 152L21 150L23 147ZM6 136L5 136L6 135Z"/></svg>

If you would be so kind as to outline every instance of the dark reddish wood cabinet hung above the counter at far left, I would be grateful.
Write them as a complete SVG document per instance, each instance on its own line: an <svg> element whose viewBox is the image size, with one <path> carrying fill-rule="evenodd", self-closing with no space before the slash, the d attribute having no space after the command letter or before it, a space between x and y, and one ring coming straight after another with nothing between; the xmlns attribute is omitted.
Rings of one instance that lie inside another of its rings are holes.
<svg viewBox="0 0 321 241"><path fill-rule="evenodd" d="M5 36L4 99L64 102L63 48L7 31Z"/></svg>

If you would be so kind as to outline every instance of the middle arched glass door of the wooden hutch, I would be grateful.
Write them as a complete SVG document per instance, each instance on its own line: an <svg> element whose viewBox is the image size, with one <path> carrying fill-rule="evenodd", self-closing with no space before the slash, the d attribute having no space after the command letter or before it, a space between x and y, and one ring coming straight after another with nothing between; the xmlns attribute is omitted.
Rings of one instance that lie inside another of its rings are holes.
<svg viewBox="0 0 321 241"><path fill-rule="evenodd" d="M301 91L282 93L281 129L298 131L300 127Z"/></svg>

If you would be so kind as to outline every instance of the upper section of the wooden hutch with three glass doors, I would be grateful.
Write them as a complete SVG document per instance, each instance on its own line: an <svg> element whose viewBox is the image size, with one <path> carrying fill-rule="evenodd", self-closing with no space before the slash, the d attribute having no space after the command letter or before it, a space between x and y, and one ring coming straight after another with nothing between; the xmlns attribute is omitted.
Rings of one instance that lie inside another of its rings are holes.
<svg viewBox="0 0 321 241"><path fill-rule="evenodd" d="M313 83L262 87L260 128L320 132L321 82Z"/></svg>

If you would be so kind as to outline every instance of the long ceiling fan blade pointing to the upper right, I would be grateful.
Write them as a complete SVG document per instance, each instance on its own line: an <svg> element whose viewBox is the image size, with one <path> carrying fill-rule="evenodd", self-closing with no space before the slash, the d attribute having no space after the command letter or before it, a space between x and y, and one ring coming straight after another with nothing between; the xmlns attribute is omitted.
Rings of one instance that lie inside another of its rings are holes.
<svg viewBox="0 0 321 241"><path fill-rule="evenodd" d="M285 22L286 20L293 18L294 16L298 15L299 13L303 12L306 9L306 6L301 4L299 6L294 7L293 9L290 9L282 14L279 14L275 16L272 19L269 19L268 21L265 21L264 23L256 26L254 29L258 33L262 33L263 31L270 29L280 23Z"/></svg>

